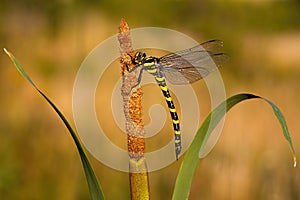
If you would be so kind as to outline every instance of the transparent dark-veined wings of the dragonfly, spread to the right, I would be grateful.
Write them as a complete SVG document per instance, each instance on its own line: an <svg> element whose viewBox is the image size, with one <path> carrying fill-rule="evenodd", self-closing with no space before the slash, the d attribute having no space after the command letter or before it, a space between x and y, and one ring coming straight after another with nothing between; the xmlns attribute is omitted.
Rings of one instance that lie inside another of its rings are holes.
<svg viewBox="0 0 300 200"><path fill-rule="evenodd" d="M167 54L160 58L160 69L174 85L193 83L228 61L228 55L216 53L222 46L222 41L211 40L190 49Z"/></svg>

